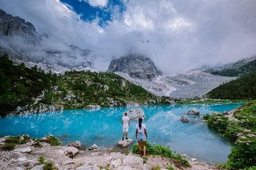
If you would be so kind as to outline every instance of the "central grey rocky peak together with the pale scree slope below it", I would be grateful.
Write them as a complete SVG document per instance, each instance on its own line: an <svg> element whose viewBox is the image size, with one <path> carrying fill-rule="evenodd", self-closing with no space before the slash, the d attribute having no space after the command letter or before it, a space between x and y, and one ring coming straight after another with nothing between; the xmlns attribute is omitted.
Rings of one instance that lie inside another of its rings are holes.
<svg viewBox="0 0 256 170"><path fill-rule="evenodd" d="M235 77L218 76L193 70L175 76L163 76L154 62L141 55L127 55L111 61L109 72L124 77L136 85L140 85L156 96L174 98L200 97L221 83L236 79Z"/></svg>

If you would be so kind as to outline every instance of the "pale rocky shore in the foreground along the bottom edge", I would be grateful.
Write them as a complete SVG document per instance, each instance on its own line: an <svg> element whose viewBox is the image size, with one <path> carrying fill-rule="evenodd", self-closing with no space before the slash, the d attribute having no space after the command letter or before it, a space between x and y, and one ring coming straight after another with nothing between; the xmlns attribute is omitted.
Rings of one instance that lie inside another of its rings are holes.
<svg viewBox="0 0 256 170"><path fill-rule="evenodd" d="M45 165L40 161L40 157L43 157L45 162L51 162L56 169L220 169L189 158L187 159L191 167L157 155L148 155L145 162L139 155L111 152L110 149L108 153L100 153L99 150L84 152L77 149L81 147L79 141L74 142L74 145L51 146L47 143L47 138L53 137L46 136L40 140L26 138L26 143L15 146L14 150L4 149L4 141L8 136L0 138L0 169L43 169Z"/></svg>

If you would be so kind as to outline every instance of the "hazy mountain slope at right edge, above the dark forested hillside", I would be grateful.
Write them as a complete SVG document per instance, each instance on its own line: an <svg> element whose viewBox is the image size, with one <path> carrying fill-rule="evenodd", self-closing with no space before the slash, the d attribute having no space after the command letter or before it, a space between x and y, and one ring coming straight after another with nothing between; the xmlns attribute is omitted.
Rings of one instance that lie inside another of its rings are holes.
<svg viewBox="0 0 256 170"><path fill-rule="evenodd" d="M206 73L220 76L244 76L252 71L256 71L256 55L246 59L230 62L223 66L208 67L203 69Z"/></svg>

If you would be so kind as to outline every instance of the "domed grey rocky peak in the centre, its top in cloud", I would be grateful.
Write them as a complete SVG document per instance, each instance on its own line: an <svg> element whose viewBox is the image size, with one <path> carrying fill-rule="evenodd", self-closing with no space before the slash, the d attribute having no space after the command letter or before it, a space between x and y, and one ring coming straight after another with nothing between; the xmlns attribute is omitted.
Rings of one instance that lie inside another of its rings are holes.
<svg viewBox="0 0 256 170"><path fill-rule="evenodd" d="M154 62L143 55L127 55L111 60L108 72L122 72L132 78L152 80L163 73L157 69Z"/></svg>

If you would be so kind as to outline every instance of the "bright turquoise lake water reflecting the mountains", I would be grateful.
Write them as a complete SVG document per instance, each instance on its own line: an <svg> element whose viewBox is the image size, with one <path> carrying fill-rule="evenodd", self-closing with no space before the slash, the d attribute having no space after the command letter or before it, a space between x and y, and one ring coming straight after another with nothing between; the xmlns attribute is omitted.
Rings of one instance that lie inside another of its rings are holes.
<svg viewBox="0 0 256 170"><path fill-rule="evenodd" d="M220 134L211 131L202 122L203 116L189 117L191 122L181 122L181 116L196 108L202 115L211 111L232 110L243 103L228 104L180 104L140 106L145 111L148 141L161 143L177 153L216 164L226 162L232 143ZM17 117L0 118L0 136L29 134L31 138L42 138L53 134L61 138L63 145L79 140L90 147L93 143L102 148L116 146L122 139L122 113L134 107L102 108L100 110L64 110ZM128 137L135 139L132 121Z"/></svg>

